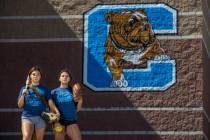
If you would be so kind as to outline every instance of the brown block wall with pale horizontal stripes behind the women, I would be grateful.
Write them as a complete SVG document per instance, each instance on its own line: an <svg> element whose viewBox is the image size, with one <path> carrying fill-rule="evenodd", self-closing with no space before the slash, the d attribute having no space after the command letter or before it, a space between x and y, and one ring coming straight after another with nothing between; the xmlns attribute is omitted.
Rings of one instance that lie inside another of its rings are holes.
<svg viewBox="0 0 210 140"><path fill-rule="evenodd" d="M0 1L0 139L20 139L16 98L31 66L42 67L42 83L49 88L58 86L57 73L64 67L82 82L84 12L96 4L151 2L167 3L179 13L178 34L158 36L176 60L176 83L162 92L94 92L83 86L83 139L207 139L209 58L201 38L201 0ZM47 131L46 139L52 139Z"/></svg>

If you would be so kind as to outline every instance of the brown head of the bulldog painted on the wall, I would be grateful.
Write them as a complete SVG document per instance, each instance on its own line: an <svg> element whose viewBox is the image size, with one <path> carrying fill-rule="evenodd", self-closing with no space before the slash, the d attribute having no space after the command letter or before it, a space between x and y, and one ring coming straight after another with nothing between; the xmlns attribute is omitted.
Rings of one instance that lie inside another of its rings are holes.
<svg viewBox="0 0 210 140"><path fill-rule="evenodd" d="M106 20L110 24L112 39L124 48L140 48L155 40L143 10L107 13Z"/></svg>

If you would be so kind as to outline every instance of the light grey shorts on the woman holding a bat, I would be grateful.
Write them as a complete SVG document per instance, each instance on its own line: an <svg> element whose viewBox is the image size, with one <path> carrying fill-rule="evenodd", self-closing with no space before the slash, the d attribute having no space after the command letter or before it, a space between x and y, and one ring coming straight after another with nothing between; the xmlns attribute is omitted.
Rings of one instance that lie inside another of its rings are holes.
<svg viewBox="0 0 210 140"><path fill-rule="evenodd" d="M21 119L23 122L28 122L28 123L33 124L35 126L35 128L45 128L46 127L45 121L40 116L35 116L35 117L22 116Z"/></svg>

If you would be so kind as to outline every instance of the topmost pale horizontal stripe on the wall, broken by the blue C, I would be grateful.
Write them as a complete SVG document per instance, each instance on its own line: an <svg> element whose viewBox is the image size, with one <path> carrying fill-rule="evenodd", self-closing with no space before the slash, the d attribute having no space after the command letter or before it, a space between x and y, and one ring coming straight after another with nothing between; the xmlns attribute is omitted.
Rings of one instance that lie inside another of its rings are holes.
<svg viewBox="0 0 210 140"><path fill-rule="evenodd" d="M178 12L179 16L202 16L202 11ZM0 16L0 20L83 19L83 15Z"/></svg>

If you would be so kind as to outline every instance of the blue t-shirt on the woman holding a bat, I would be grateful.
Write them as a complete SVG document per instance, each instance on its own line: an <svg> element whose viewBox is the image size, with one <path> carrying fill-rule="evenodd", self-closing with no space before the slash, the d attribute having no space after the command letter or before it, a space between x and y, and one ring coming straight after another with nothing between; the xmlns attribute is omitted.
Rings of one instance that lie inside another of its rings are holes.
<svg viewBox="0 0 210 140"><path fill-rule="evenodd" d="M21 88L18 99L20 98L23 89L25 89L25 86ZM46 101L51 99L50 90L48 88L38 85L35 86L35 89L41 96L45 97ZM46 105L35 95L32 89L29 89L28 93L25 95L22 116L40 116L41 113L46 110L46 108Z"/></svg>

